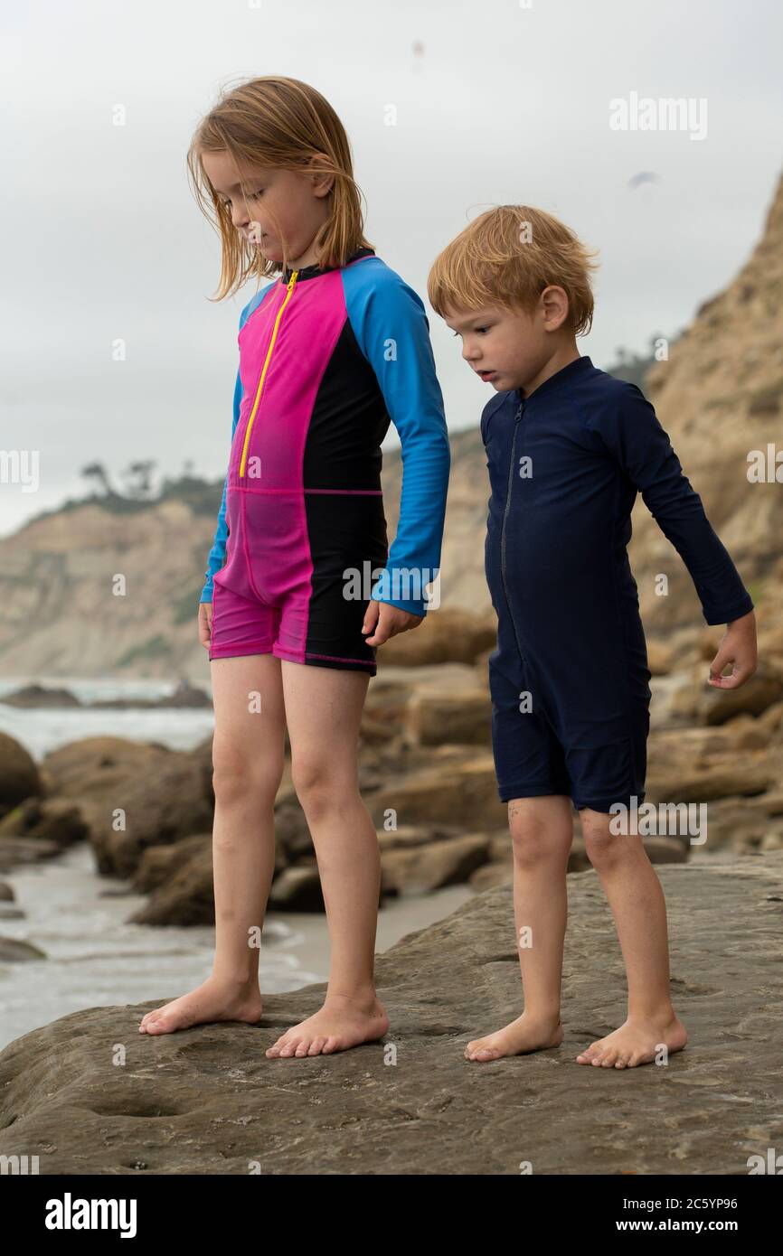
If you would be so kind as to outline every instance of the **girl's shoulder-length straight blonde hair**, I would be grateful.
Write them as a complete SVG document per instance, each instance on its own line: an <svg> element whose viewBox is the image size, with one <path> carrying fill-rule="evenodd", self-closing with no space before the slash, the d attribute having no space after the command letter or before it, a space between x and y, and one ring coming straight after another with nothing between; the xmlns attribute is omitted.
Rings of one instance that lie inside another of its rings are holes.
<svg viewBox="0 0 783 1256"><path fill-rule="evenodd" d="M331 215L313 244L320 250L322 269L344 266L357 249L373 246L364 239L361 191L353 178L353 161L346 129L329 102L299 79L264 75L225 92L201 119L187 152L187 170L199 207L220 232L222 256L215 300L231 296L249 275L278 274L288 265L285 241L282 261L265 257L231 221L201 163L202 152L227 152L239 166L277 166L303 172L318 156L318 168L334 175L328 192ZM243 196L249 196L240 180Z"/></svg>

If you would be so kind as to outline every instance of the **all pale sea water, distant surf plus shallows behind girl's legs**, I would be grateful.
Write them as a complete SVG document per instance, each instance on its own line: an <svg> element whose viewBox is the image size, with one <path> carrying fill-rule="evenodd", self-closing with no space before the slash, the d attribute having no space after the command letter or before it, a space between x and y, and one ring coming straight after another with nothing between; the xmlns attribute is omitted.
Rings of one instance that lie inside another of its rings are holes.
<svg viewBox="0 0 783 1256"><path fill-rule="evenodd" d="M211 707L79 711L21 710L3 703L4 693L28 683L69 688L83 701L158 697L171 693L175 686L75 677L0 682L0 728L36 760L80 737L111 735L189 750L212 732ZM24 912L20 919L5 917L5 904L0 903L0 936L31 942L45 955L43 960L0 961L0 1049L80 1009L167 1002L200 985L211 971L214 928L129 924L128 918L146 902L145 896L128 893L122 880L99 877L87 843L58 859L0 873L0 879L14 889L15 903L9 906ZM376 951L442 919L471 897L469 887L452 885L432 894L391 899L378 917ZM299 990L326 981L328 967L324 916L269 914L259 967L261 992Z"/></svg>

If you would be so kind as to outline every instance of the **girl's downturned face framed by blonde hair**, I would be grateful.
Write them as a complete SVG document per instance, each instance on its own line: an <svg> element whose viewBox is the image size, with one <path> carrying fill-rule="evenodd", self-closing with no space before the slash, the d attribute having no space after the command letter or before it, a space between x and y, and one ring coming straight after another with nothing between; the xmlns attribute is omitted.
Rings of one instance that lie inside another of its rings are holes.
<svg viewBox="0 0 783 1256"><path fill-rule="evenodd" d="M227 152L201 153L201 163L219 198L227 203L231 220L245 239L254 241L270 261L309 265L310 244L329 217L327 200L334 177L313 167L299 173L275 166L245 166L238 171ZM244 178L248 200L239 187Z"/></svg>

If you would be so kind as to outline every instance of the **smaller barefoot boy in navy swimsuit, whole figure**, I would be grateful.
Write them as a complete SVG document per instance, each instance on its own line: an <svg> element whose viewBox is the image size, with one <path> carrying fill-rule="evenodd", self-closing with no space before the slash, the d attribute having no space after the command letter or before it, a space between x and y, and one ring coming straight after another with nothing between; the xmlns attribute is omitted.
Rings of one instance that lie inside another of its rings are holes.
<svg viewBox="0 0 783 1256"><path fill-rule="evenodd" d="M481 413L491 486L485 570L498 614L489 682L524 1012L468 1044L465 1056L480 1063L562 1041L572 805L628 982L625 1024L576 1059L633 1068L661 1044L671 1053L687 1041L670 997L664 894L633 823L651 697L626 551L637 490L686 564L708 624L728 625L709 683L736 688L757 666L750 595L652 406L579 355L593 268L557 219L503 205L451 241L427 281L432 308L463 338L463 357L496 393ZM723 677L726 664L733 672ZM628 809L630 835L610 826L615 804Z"/></svg>

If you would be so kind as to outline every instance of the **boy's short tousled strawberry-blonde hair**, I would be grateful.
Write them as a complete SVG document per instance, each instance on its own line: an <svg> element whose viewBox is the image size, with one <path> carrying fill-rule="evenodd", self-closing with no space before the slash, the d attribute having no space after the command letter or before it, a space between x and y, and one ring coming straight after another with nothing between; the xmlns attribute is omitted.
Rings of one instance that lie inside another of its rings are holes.
<svg viewBox="0 0 783 1256"><path fill-rule="evenodd" d="M437 255L427 276L430 305L449 309L524 309L530 313L544 288L557 284L568 295L568 323L574 335L593 320L591 270L597 263L574 232L530 205L498 205L474 219Z"/></svg>

